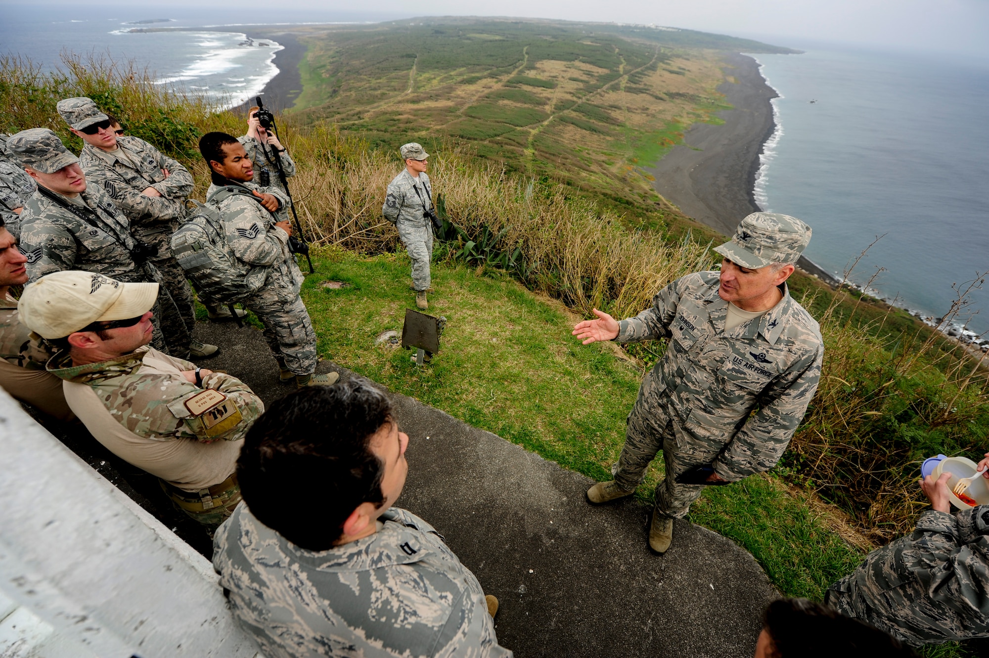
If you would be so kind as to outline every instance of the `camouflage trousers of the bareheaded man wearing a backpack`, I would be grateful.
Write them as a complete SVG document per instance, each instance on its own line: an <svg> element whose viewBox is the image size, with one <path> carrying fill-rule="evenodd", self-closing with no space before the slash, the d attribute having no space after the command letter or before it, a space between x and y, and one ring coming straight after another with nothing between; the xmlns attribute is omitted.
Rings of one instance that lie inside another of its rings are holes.
<svg viewBox="0 0 989 658"><path fill-rule="evenodd" d="M276 284L262 288L242 303L264 325L264 340L279 365L284 364L296 374L315 372L315 329L298 293Z"/></svg>

